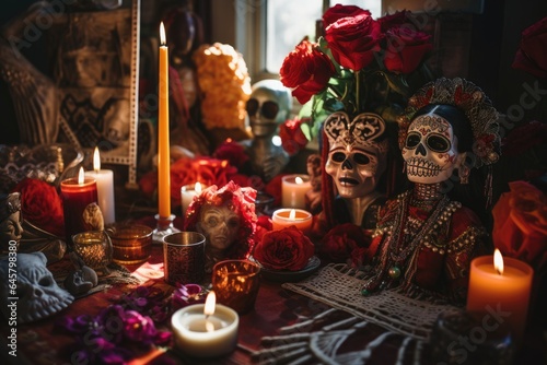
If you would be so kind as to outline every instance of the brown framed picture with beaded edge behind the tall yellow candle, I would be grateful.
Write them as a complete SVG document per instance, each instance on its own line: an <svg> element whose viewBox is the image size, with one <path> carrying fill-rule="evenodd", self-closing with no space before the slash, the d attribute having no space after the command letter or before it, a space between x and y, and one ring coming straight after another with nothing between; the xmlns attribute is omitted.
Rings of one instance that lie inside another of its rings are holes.
<svg viewBox="0 0 547 365"><path fill-rule="evenodd" d="M60 138L102 163L128 166L137 180L139 0L110 9L72 9L51 27L54 80L60 97Z"/></svg>

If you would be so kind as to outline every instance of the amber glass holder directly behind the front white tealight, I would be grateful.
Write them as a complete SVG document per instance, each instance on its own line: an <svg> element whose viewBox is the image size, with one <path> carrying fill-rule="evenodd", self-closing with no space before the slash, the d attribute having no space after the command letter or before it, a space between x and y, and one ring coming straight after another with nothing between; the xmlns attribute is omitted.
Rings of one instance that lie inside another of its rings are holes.
<svg viewBox="0 0 547 365"><path fill-rule="evenodd" d="M218 303L246 314L255 307L260 267L247 260L220 261L212 269L211 281Z"/></svg>

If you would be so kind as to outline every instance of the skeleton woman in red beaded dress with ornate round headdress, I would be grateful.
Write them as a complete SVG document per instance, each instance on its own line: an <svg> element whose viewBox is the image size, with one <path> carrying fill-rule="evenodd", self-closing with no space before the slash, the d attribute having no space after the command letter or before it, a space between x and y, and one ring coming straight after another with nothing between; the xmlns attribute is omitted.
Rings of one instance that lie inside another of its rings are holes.
<svg viewBox="0 0 547 365"><path fill-rule="evenodd" d="M498 114L473 83L440 79L410 98L406 116L399 146L414 187L380 212L362 293L398 289L464 304L469 263L484 247L486 229L474 211L449 196L451 187L467 184L472 168L498 160Z"/></svg>

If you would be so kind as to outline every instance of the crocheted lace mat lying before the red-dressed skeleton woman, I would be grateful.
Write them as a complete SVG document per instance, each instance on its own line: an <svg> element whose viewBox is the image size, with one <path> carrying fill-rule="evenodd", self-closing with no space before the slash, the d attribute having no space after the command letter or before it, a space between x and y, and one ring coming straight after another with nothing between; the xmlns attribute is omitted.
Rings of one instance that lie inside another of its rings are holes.
<svg viewBox="0 0 547 365"><path fill-rule="evenodd" d="M362 296L363 279L366 279L363 271L345 263L330 263L317 275L298 283L284 283L282 287L419 340L429 340L441 313L459 310L452 305L414 299L393 289Z"/></svg>

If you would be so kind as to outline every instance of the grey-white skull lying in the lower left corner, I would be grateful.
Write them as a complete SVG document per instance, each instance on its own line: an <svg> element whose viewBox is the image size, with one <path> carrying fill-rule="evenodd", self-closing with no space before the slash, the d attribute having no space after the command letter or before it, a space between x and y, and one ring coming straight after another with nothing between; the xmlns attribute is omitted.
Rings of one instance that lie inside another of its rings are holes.
<svg viewBox="0 0 547 365"><path fill-rule="evenodd" d="M9 275L10 262L16 263L16 280ZM57 285L46 262L46 256L39 251L18 254L15 261L0 261L1 310L5 318L16 311L18 323L27 323L51 316L72 303L74 297ZM13 297L18 299L10 299Z"/></svg>

